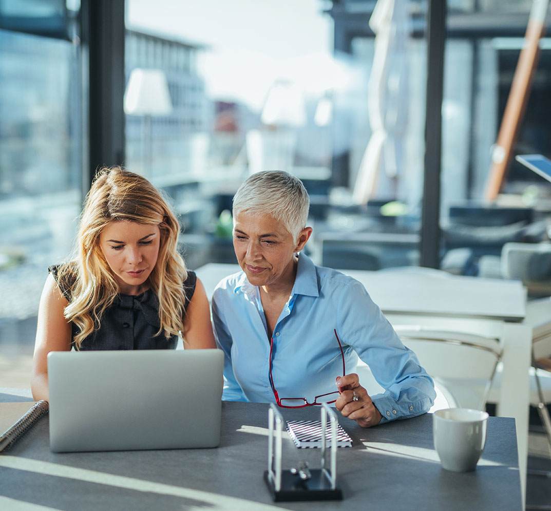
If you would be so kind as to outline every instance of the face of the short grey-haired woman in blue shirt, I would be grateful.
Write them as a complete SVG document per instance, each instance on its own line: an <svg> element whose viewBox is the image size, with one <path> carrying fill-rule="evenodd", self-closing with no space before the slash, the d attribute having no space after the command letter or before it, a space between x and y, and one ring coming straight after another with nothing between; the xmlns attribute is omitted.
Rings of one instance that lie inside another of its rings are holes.
<svg viewBox="0 0 551 511"><path fill-rule="evenodd" d="M298 243L287 228L268 215L238 213L234 219L234 250L239 266L253 286L287 286L294 281L294 254L302 250L311 229Z"/></svg>

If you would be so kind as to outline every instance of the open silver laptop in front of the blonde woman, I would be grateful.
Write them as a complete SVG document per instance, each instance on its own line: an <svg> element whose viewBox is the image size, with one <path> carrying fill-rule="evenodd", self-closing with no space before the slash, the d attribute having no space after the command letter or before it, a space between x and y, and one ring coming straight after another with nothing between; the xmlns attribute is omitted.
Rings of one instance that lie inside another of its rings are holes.
<svg viewBox="0 0 551 511"><path fill-rule="evenodd" d="M219 349L48 353L54 452L217 447Z"/></svg>

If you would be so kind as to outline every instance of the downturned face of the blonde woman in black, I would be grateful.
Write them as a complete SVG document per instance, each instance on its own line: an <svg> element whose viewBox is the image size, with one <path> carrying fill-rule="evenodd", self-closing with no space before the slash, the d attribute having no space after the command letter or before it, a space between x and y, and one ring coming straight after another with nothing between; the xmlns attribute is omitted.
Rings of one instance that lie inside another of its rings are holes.
<svg viewBox="0 0 551 511"><path fill-rule="evenodd" d="M122 294L136 295L153 271L159 255L158 225L111 222L100 234L100 248Z"/></svg>

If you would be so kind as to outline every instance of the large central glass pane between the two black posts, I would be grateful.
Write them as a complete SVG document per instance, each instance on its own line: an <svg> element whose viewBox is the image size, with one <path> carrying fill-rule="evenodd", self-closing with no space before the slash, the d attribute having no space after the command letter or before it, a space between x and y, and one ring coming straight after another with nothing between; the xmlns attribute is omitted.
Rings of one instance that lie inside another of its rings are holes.
<svg viewBox="0 0 551 511"><path fill-rule="evenodd" d="M374 5L339 2L334 9L352 9L339 17L317 0L182 1L176 11L160 3L153 17L129 0L127 29L143 30L145 49L127 54L127 76L147 65L154 41L146 31L185 63L154 62L174 122L161 132L155 111L127 112L126 133L129 168L175 202L188 266L235 261L225 210L246 176L267 169L294 173L309 190L307 251L317 263L372 270L418 262L426 46L408 36L407 16L391 20L401 38L390 47L390 76L377 82L385 43L382 36L376 50ZM381 145L383 131L391 136Z"/></svg>

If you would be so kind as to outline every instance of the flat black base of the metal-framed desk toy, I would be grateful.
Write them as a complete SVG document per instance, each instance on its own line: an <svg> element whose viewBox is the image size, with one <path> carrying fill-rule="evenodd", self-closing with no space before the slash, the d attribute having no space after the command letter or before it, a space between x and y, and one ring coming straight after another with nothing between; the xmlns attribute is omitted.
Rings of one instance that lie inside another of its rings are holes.
<svg viewBox="0 0 551 511"><path fill-rule="evenodd" d="M343 493L341 488L331 490L331 483L327 480L321 469L311 469L312 476L302 481L298 475L289 471L282 471L281 490L275 490L269 477L269 472L264 471L264 481L272 493L274 502L293 501L342 501Z"/></svg>

